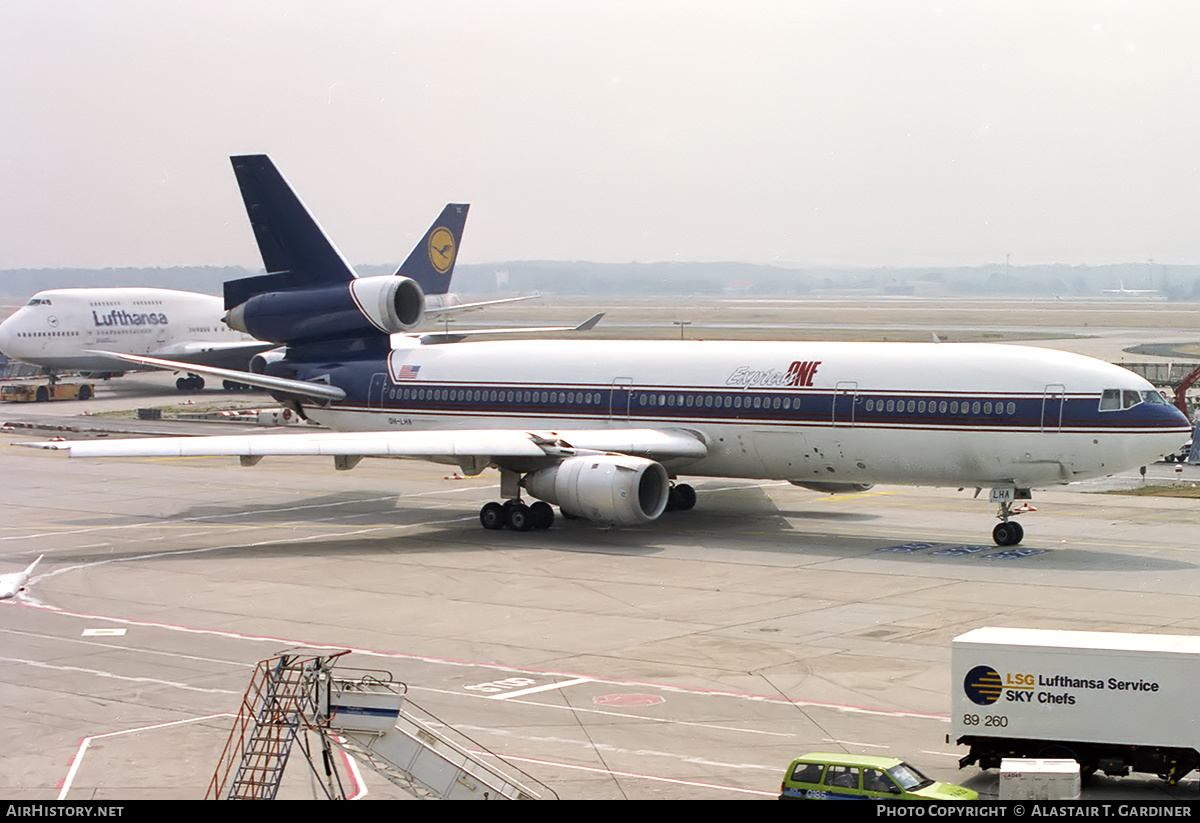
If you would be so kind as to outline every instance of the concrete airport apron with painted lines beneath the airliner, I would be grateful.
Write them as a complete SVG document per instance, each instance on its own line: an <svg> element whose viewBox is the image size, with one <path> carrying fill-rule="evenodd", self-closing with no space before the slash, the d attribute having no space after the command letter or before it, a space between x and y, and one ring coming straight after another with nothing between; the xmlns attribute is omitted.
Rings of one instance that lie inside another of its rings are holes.
<svg viewBox="0 0 1200 823"><path fill-rule="evenodd" d="M42 427L233 431L78 416L178 403L168 384L0 410ZM701 479L694 511L647 528L558 519L521 534L479 527L494 473L17 445L2 459L2 570L46 554L30 590L0 603L10 799L202 798L254 663L293 647L352 649L346 666L407 683L564 799L770 798L787 762L815 750L900 756L995 797L996 775L959 771L965 752L946 740L954 636L1200 632L1190 499L1042 492L1025 542L1004 551L973 489L821 495ZM1200 473L1159 464L1156 477ZM407 797L341 771L352 794ZM306 773L293 756L281 797L313 797ZM1196 795L1194 776L1097 777L1085 792Z"/></svg>

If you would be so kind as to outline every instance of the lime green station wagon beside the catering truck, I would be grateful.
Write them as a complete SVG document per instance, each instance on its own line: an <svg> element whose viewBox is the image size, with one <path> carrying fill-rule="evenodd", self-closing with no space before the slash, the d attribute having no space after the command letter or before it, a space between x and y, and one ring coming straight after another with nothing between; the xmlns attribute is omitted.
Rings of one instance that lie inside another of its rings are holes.
<svg viewBox="0 0 1200 823"><path fill-rule="evenodd" d="M812 752L787 767L780 800L978 800L979 793L930 780L896 757Z"/></svg>

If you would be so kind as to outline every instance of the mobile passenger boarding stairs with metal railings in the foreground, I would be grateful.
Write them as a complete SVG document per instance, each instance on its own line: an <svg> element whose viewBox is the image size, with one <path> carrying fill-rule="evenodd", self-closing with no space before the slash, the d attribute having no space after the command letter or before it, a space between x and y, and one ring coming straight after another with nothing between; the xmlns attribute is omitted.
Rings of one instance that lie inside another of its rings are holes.
<svg viewBox="0 0 1200 823"><path fill-rule="evenodd" d="M293 650L258 663L209 799L275 799L296 745L329 799L346 797L335 746L420 799L557 799L552 789L414 704L390 673L335 673L346 654ZM318 739L319 756L308 744L310 733Z"/></svg>

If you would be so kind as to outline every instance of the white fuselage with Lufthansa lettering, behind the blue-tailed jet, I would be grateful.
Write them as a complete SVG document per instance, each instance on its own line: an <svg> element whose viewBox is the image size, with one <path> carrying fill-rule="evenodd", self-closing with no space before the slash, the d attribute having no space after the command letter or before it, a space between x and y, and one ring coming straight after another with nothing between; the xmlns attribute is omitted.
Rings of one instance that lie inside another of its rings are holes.
<svg viewBox="0 0 1200 823"><path fill-rule="evenodd" d="M0 352L49 371L121 371L90 350L186 356L253 338L221 322L221 298L143 288L38 292L0 323Z"/></svg>

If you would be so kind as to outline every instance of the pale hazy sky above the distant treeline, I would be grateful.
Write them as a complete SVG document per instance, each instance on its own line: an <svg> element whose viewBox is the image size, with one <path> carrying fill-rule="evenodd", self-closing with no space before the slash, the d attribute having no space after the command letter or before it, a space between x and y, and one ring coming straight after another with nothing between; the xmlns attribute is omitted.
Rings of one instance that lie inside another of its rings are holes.
<svg viewBox="0 0 1200 823"><path fill-rule="evenodd" d="M4 0L0 268L1200 263L1195 0Z"/></svg>

